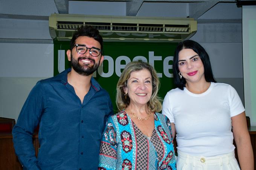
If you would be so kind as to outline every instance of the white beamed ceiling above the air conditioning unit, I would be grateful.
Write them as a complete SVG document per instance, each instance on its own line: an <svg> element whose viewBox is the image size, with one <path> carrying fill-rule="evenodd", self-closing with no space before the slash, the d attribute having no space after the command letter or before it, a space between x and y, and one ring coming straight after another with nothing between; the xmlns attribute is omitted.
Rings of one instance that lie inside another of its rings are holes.
<svg viewBox="0 0 256 170"><path fill-rule="evenodd" d="M0 18L48 20L53 13L241 19L235 0L0 0Z"/></svg>

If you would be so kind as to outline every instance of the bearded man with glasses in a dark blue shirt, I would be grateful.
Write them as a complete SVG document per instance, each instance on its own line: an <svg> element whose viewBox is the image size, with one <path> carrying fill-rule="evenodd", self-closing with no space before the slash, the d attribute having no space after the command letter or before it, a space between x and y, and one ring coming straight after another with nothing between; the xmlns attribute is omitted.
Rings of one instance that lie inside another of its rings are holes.
<svg viewBox="0 0 256 170"><path fill-rule="evenodd" d="M38 81L12 131L15 153L23 169L97 169L99 146L110 97L92 77L104 60L102 37L80 27L67 51L71 69ZM37 125L40 149L35 157L32 134Z"/></svg>

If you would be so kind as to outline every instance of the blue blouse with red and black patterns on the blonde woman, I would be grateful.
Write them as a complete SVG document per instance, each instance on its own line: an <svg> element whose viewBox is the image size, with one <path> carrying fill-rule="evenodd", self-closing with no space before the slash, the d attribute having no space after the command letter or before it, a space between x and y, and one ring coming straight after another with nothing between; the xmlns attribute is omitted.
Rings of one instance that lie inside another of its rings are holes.
<svg viewBox="0 0 256 170"><path fill-rule="evenodd" d="M155 128L149 139L125 111L109 117L105 127L99 170L176 170L171 123L154 113Z"/></svg>

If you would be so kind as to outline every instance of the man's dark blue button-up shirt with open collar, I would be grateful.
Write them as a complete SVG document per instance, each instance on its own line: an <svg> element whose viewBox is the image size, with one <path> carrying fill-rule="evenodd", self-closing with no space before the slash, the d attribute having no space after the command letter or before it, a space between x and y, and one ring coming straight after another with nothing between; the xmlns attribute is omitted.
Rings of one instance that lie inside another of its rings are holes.
<svg viewBox="0 0 256 170"><path fill-rule="evenodd" d="M24 169L96 170L99 147L113 106L94 78L83 103L67 82L70 69L38 81L29 93L12 131L15 153ZM32 134L40 125L35 157Z"/></svg>

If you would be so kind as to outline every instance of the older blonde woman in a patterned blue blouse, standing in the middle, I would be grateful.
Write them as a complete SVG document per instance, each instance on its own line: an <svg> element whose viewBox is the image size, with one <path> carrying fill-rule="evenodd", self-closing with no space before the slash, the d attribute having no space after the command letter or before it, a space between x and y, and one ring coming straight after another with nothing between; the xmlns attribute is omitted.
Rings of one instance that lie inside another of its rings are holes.
<svg viewBox="0 0 256 170"><path fill-rule="evenodd" d="M171 124L157 113L158 88L151 65L126 65L117 83L119 113L109 117L103 133L99 170L176 170Z"/></svg>

